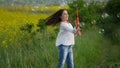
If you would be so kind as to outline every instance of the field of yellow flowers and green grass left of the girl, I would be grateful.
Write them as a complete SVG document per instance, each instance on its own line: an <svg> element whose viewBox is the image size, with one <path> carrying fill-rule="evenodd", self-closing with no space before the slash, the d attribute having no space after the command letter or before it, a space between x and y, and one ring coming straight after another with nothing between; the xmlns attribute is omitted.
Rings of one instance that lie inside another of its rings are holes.
<svg viewBox="0 0 120 68"><path fill-rule="evenodd" d="M54 46L48 46L54 45L51 40L52 38L54 40L54 36L50 36L50 32L36 34L35 30L39 19L45 19L59 8L58 6L0 6L0 68L55 66L57 60L54 62L50 54L56 49ZM20 29L26 24L34 26L33 33ZM49 48L49 51L46 48Z"/></svg>

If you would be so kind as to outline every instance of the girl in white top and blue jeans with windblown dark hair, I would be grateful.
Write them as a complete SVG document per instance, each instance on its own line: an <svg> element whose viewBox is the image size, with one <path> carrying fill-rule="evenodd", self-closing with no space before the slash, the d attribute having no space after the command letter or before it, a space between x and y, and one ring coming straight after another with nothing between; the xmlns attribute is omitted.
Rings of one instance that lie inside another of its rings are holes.
<svg viewBox="0 0 120 68"><path fill-rule="evenodd" d="M78 27L73 28L68 21L68 12L66 9L60 9L47 18L46 25L56 25L60 23L60 30L56 39L56 46L59 49L59 64L57 68L63 68L65 61L67 68L73 68L73 50L74 34L80 31Z"/></svg>

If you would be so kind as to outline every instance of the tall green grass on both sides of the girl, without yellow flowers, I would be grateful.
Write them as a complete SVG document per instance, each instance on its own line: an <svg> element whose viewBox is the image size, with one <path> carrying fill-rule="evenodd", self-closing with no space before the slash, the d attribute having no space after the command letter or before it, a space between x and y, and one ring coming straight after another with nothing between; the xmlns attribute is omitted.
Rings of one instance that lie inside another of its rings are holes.
<svg viewBox="0 0 120 68"><path fill-rule="evenodd" d="M88 35L89 31L91 33ZM75 68L96 68L102 59L102 38L98 33L99 36L92 35L96 31L89 31L84 32L82 37L76 37L76 44L73 48ZM1 68L8 66L14 68L55 68L58 61L55 39L51 39L49 33L38 32L34 37L27 35L23 35L20 42L14 42L7 48L1 47Z"/></svg>

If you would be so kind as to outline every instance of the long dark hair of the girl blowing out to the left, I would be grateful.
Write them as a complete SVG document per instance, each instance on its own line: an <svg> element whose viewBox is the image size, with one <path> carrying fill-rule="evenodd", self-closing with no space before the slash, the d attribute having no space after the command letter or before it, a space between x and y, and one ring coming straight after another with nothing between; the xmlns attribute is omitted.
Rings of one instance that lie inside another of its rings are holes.
<svg viewBox="0 0 120 68"><path fill-rule="evenodd" d="M62 15L63 11L66 9L60 9L57 12L55 12L53 15L49 16L46 19L45 25L53 25L55 26L61 21L60 16Z"/></svg>

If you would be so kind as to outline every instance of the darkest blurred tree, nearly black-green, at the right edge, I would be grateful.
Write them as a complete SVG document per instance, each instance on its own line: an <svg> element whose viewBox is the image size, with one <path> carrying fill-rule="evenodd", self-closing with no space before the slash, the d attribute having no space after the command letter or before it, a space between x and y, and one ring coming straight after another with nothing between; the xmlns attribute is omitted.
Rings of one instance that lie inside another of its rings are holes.
<svg viewBox="0 0 120 68"><path fill-rule="evenodd" d="M100 28L104 29L104 36L113 45L120 45L120 0L109 0L99 21Z"/></svg>

